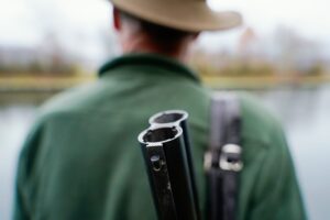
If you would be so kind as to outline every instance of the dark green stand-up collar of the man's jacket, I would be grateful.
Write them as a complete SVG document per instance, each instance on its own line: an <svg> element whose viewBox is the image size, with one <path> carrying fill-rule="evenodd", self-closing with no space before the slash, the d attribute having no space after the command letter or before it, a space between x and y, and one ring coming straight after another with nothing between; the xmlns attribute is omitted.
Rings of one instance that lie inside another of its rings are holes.
<svg viewBox="0 0 330 220"><path fill-rule="evenodd" d="M189 77L190 79L200 82L200 79L195 72L174 58L157 54L130 54L120 56L105 64L99 70L99 76L102 77L103 75L111 74L111 72L117 68L135 65L145 65L151 67L154 66L155 68L168 69L173 73L177 73L178 75Z"/></svg>

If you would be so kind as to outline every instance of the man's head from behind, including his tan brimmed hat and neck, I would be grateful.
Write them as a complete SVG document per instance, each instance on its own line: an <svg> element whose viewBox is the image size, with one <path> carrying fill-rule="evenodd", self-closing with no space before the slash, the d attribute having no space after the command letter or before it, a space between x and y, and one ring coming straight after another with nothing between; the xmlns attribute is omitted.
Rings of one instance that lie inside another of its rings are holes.
<svg viewBox="0 0 330 220"><path fill-rule="evenodd" d="M124 53L154 52L182 58L201 31L242 23L239 13L213 11L206 0L110 0Z"/></svg>

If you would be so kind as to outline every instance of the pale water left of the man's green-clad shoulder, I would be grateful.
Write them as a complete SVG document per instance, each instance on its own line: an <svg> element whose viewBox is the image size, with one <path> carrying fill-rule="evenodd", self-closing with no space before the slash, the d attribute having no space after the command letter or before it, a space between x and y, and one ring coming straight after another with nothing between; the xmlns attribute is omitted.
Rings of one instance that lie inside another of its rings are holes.
<svg viewBox="0 0 330 220"><path fill-rule="evenodd" d="M35 116L34 106L0 107L0 219L9 220L16 156Z"/></svg>

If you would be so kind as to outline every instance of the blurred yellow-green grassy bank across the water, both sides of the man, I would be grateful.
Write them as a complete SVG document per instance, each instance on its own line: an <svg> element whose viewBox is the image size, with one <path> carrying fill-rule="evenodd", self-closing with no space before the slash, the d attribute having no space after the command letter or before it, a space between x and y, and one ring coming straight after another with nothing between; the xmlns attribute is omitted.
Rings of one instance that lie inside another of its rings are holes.
<svg viewBox="0 0 330 220"><path fill-rule="evenodd" d="M0 77L0 92L11 91L57 91L73 86L96 80L95 75L64 77L64 76L15 76ZM215 89L267 89L279 86L317 86L329 84L330 76L292 77L292 76L234 76L234 77L204 77L202 81Z"/></svg>

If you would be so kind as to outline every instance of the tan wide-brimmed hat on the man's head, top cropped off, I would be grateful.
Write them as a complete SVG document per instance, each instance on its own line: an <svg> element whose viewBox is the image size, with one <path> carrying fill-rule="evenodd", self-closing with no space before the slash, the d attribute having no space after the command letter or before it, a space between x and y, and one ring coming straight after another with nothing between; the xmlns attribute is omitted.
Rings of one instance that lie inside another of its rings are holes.
<svg viewBox="0 0 330 220"><path fill-rule="evenodd" d="M110 0L113 6L142 20L188 32L239 26L238 12L211 10L206 0Z"/></svg>

